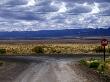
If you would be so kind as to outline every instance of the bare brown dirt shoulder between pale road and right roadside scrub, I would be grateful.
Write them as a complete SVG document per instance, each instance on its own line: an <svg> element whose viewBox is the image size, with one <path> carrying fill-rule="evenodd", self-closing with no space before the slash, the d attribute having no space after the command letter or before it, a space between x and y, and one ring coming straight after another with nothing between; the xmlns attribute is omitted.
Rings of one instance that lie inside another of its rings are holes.
<svg viewBox="0 0 110 82"><path fill-rule="evenodd" d="M79 78L85 79L82 82L106 82L100 77L100 75L88 67L81 65L79 63L72 63L69 66L75 71Z"/></svg>

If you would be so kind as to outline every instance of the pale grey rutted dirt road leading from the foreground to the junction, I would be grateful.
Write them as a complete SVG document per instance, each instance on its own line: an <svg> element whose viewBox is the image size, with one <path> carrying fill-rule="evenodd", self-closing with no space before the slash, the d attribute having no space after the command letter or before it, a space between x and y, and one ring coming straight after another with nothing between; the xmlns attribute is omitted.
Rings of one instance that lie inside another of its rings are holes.
<svg viewBox="0 0 110 82"><path fill-rule="evenodd" d="M32 63L13 82L104 82L88 72L72 60L51 60Z"/></svg>

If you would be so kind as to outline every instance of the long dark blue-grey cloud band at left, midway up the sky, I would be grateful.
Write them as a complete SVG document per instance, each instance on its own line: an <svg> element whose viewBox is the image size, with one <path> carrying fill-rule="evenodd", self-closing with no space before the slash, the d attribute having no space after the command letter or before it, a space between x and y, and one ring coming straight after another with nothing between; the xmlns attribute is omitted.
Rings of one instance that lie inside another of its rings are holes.
<svg viewBox="0 0 110 82"><path fill-rule="evenodd" d="M42 21L42 14L36 14L33 12L12 12L12 11L1 11L0 16L6 19L17 19L17 20L39 20Z"/></svg>

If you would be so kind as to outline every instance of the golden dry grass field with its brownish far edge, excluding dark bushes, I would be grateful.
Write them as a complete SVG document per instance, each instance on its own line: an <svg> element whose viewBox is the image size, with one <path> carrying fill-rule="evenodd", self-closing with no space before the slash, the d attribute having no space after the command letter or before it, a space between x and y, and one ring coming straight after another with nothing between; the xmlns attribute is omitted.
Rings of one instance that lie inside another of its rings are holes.
<svg viewBox="0 0 110 82"><path fill-rule="evenodd" d="M100 46L100 40L84 39L61 39L61 40L3 40L0 41L0 49L5 49L5 54L30 55L36 53L44 54L79 54L94 53L94 49ZM110 47L108 45L107 47ZM34 50L33 50L34 49Z"/></svg>

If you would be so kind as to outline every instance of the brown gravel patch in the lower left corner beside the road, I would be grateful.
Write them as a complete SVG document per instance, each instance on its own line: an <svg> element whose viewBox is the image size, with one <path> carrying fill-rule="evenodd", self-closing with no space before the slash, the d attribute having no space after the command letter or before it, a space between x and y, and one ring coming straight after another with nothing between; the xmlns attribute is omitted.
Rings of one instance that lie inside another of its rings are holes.
<svg viewBox="0 0 110 82"><path fill-rule="evenodd" d="M5 62L0 66L0 82L13 82L28 66L29 63Z"/></svg>

